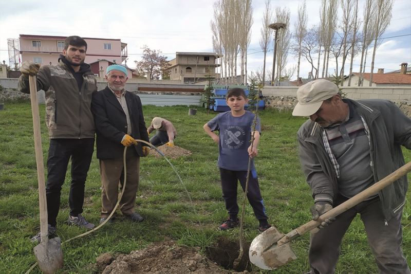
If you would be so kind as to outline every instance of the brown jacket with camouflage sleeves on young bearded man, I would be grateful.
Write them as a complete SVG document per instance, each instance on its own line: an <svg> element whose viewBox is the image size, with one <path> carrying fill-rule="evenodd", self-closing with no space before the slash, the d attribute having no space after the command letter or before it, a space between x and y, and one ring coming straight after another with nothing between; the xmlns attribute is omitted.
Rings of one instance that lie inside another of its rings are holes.
<svg viewBox="0 0 411 274"><path fill-rule="evenodd" d="M94 138L94 119L90 111L91 94L97 81L88 64L83 63L83 85L79 90L71 70L62 60L58 65L41 66L37 74L37 89L46 96L46 124L50 139ZM28 77L20 76L18 88L30 93Z"/></svg>

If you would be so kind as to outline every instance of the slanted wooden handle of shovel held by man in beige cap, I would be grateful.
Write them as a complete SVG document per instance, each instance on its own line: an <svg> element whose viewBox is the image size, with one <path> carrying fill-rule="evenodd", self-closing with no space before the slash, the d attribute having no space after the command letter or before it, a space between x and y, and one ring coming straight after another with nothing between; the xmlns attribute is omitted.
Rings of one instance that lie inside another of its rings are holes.
<svg viewBox="0 0 411 274"><path fill-rule="evenodd" d="M369 188L361 191L357 195L353 196L352 198L346 200L344 203L341 205L334 207L330 211L327 211L323 215L319 217L317 221L310 221L294 230L291 232L287 233L282 239L280 239L277 242L277 245L282 245L285 243L288 243L290 240L301 236L308 231L318 227L321 225L322 222L324 222L325 219L335 217L337 215L340 215L341 213L347 211L348 209L360 204L363 202L365 199L368 197L377 194L380 190L383 188L387 187L388 185L392 184L402 176L406 175L409 171L411 171L411 162L406 163L404 166L401 168L397 169L393 173L389 174L385 178L381 179L380 181L376 182Z"/></svg>

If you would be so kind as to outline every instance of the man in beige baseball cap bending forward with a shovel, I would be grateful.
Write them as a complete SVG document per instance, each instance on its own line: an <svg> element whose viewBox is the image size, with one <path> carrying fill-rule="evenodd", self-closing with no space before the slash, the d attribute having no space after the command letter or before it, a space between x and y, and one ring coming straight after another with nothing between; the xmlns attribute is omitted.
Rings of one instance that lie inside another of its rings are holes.
<svg viewBox="0 0 411 274"><path fill-rule="evenodd" d="M294 116L308 116L298 130L300 161L312 190L313 220L404 165L411 149L411 119L392 102L342 99L334 83L318 79L297 90ZM411 273L401 242L408 188L403 176L359 205L322 223L312 234L310 273L334 273L342 238L360 214L380 273Z"/></svg>

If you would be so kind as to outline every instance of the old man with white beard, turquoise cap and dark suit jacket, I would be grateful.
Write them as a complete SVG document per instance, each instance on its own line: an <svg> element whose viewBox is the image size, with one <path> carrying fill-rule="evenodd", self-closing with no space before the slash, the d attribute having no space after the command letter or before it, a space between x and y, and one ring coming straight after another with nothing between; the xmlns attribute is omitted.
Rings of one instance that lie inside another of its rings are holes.
<svg viewBox="0 0 411 274"><path fill-rule="evenodd" d="M127 79L124 66L108 66L107 87L95 92L91 100L102 184L100 223L107 219L117 203L119 182L121 188L124 185L124 147L130 148L126 152L127 181L120 201L120 210L130 221L144 220L135 212L135 204L140 177L140 157L147 156L150 148L135 140L148 142L148 135L140 98L124 88Z"/></svg>

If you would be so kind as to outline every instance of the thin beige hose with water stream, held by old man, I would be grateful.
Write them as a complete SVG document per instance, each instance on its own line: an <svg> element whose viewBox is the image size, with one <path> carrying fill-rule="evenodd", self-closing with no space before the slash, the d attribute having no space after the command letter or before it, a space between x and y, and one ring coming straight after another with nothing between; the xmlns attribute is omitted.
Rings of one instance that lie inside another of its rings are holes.
<svg viewBox="0 0 411 274"><path fill-rule="evenodd" d="M184 187L184 190L185 190L186 193L188 194L188 197L189 197L189 199L190 199L190 203L193 205L193 202L192 202L192 199L191 199L191 196L190 196L190 193L189 193L188 189L185 187L185 185L184 185L184 183L183 183L180 175L178 174L176 168L172 165L172 163L170 162L170 160L167 159L167 157L165 157L164 153L161 152L158 148L156 148L154 145L152 145L152 144L149 143L149 142L146 142L146 141L140 140L140 139L135 139L135 140L136 140L137 142L142 142L142 143L145 143L145 144L150 145L150 148L151 148L151 149L154 149L155 151L157 151L161 156L164 157L164 159L167 160L167 162L169 162L170 166L173 168L173 170L174 170L174 172L177 174L177 177L178 177L178 179L180 180L182 186ZM119 204L120 204L120 200L121 200L121 198L123 197L124 190L125 190L125 186L126 186L126 182L127 182L127 167L126 167L126 157L125 157L125 156L126 156L126 152L127 152L127 147L124 147L124 152L123 152L124 185L123 185L123 189L121 190L120 196L119 196L118 199L117 199L117 204L116 204L116 206L114 207L114 209L111 211L110 215L108 215L108 217L106 218L106 220L104 220L104 222L101 223L99 226L97 226L97 227L95 227L95 228L93 228L93 229L91 229L91 230L89 230L89 231L87 231L87 232L84 232L84 233L82 233L82 234L79 234L79 235L77 235L77 236L74 236L73 238L70 238L70 239L62 242L62 243L61 243L62 246L63 246L63 244L65 244L65 243L68 243L68 242L70 242L70 241L72 241L72 240L74 240L74 239L81 238L81 237L83 237L83 236L85 236L85 235L90 234L91 232L94 232L94 231L98 230L99 228L101 228L102 226L104 226L104 225L110 220L110 218L114 215L114 213L115 213L116 210L117 210L117 207L118 207ZM34 264L30 267L30 269L27 270L26 274L30 273L31 270L33 270L34 267L36 267L37 265L38 265L37 262L34 263Z"/></svg>

